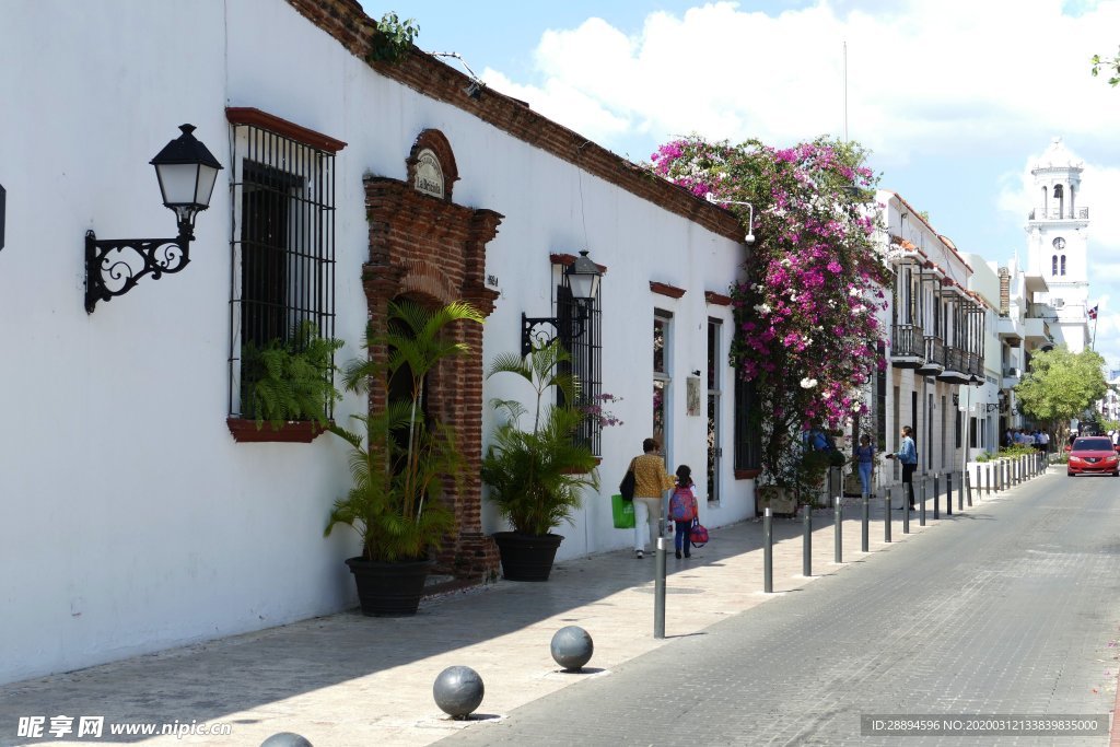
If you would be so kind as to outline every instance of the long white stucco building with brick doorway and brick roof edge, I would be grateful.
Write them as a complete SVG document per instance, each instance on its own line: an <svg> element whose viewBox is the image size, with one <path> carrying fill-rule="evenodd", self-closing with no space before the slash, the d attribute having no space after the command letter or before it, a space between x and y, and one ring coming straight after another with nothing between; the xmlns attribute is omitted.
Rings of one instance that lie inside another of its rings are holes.
<svg viewBox="0 0 1120 747"><path fill-rule="evenodd" d="M585 362L625 424L601 438L603 488L559 527L559 559L629 547L609 496L657 431L706 523L753 515L727 358L738 222L417 49L367 63L371 29L353 0L6 10L0 682L353 606L357 540L323 536L346 451L246 426L244 343L306 319L345 362L393 298L475 302L476 355L433 382L432 407L477 466L485 403L512 394L483 372L519 349L523 316L557 314L580 251L606 271ZM175 234L148 161L184 122L223 169L189 265L90 314L86 232ZM937 421L949 390L928 390ZM477 579L504 527L467 483L442 561Z"/></svg>

